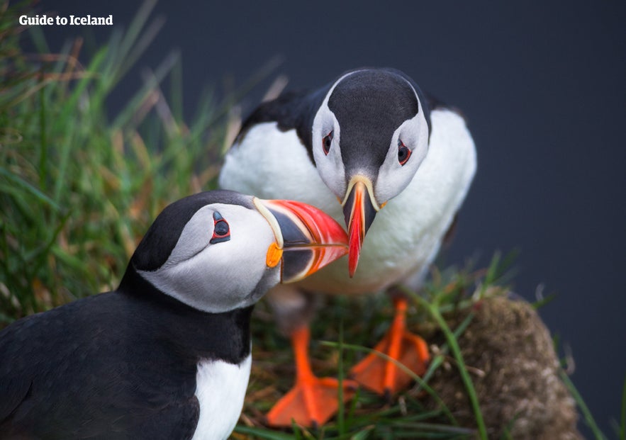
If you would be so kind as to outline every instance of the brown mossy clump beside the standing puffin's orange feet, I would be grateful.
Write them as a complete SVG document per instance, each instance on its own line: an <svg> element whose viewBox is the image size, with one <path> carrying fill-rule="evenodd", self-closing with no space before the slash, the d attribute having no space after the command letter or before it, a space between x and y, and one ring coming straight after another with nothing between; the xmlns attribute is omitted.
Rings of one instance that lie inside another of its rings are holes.
<svg viewBox="0 0 626 440"><path fill-rule="evenodd" d="M552 338L531 305L497 295L460 310L454 320L461 322L470 312L474 319L459 346L490 438L582 439L576 402L559 379ZM439 368L430 385L461 426L475 426L454 366Z"/></svg>

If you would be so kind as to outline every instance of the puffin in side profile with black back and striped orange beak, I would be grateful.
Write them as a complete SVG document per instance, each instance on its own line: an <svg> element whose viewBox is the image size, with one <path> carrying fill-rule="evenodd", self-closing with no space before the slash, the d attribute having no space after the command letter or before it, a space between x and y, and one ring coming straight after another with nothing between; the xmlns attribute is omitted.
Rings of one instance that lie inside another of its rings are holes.
<svg viewBox="0 0 626 440"><path fill-rule="evenodd" d="M116 290L0 332L0 439L227 439L255 303L346 253L342 227L301 202L208 191L168 205Z"/></svg>

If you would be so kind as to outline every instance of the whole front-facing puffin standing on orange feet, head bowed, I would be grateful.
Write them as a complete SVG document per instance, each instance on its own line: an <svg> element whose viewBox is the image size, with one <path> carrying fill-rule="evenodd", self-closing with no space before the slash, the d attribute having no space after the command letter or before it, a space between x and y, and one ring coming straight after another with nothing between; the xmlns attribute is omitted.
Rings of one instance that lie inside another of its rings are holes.
<svg viewBox="0 0 626 440"><path fill-rule="evenodd" d="M345 223L350 248L267 297L291 337L296 363L294 388L267 414L269 424L315 426L337 411L336 381L316 377L308 357L320 293L390 293L393 320L374 349L425 371L427 345L406 329L408 298L397 287L423 286L475 172L476 149L462 113L397 69L352 69L318 89L261 103L244 120L225 155L220 187L315 205ZM390 397L410 383L375 353L350 373L356 383L343 381L346 399L356 385Z"/></svg>

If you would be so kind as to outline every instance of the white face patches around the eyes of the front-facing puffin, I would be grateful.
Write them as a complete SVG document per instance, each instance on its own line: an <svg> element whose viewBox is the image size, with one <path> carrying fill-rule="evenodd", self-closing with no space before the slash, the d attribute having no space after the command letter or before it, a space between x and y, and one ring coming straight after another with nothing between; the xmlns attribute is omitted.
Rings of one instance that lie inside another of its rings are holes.
<svg viewBox="0 0 626 440"><path fill-rule="evenodd" d="M350 74L352 73L354 72ZM350 74L340 78L331 87L313 120L315 165L326 186L340 200L345 198L347 185L354 176L354 171L352 176L346 176L347 164L343 162L341 154L341 127L335 113L328 107L328 101L335 86ZM377 205L386 203L408 186L428 151L428 125L425 112L417 93L415 97L418 99L419 111L413 118L404 120L393 132L389 144L386 144L388 150L384 162L376 164L377 175L367 176L364 172L364 175L376 182L374 197Z"/></svg>

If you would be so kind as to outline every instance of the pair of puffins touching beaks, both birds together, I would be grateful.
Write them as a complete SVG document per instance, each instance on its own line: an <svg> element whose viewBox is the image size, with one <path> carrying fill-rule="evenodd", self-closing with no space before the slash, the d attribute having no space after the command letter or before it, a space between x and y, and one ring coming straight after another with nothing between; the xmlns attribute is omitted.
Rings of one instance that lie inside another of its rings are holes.
<svg viewBox="0 0 626 440"><path fill-rule="evenodd" d="M0 332L0 439L227 438L250 374L250 313L269 289L296 384L268 422L323 424L337 381L311 370L313 295L419 288L475 169L462 116L398 70L355 69L263 103L220 173L223 188L258 198L169 205L117 290ZM426 345L406 330L406 298L393 302L376 350L421 373ZM352 373L387 394L410 380L374 355Z"/></svg>

